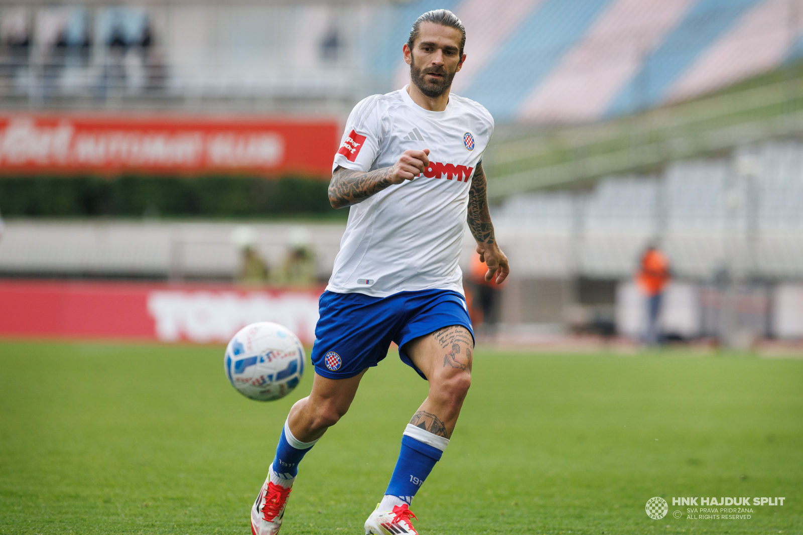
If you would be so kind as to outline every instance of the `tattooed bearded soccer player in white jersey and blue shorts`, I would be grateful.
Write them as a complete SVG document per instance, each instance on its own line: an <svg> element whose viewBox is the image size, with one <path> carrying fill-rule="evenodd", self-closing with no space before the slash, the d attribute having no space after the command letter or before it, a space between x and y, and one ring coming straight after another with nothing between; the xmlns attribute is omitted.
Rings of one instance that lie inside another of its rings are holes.
<svg viewBox="0 0 803 535"><path fill-rule="evenodd" d="M320 297L312 393L292 407L267 480L251 508L254 535L282 524L298 465L343 416L391 341L430 384L365 533L418 533L410 503L449 444L471 384L474 335L458 260L465 222L501 284L509 268L488 214L485 108L449 92L466 30L448 10L422 14L402 48L412 83L351 112L332 165L329 200L351 206L332 278ZM368 423L366 423L368 425Z"/></svg>

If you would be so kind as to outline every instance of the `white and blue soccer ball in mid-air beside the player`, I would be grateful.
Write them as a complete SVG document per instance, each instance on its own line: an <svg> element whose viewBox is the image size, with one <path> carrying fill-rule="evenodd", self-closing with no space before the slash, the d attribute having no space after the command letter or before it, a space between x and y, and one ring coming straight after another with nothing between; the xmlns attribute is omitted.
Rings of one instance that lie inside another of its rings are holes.
<svg viewBox="0 0 803 535"><path fill-rule="evenodd" d="M304 374L304 347L286 327L261 321L240 329L226 346L226 377L257 401L283 398Z"/></svg>

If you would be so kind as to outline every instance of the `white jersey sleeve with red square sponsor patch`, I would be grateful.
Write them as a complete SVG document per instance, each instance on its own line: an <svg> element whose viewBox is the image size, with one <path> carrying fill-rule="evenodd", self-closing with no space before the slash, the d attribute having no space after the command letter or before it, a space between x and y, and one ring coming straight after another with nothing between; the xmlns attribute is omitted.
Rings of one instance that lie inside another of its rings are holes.
<svg viewBox="0 0 803 535"><path fill-rule="evenodd" d="M346 121L332 172L338 165L355 171L369 171L379 156L381 142L382 121L377 95L369 96L354 107Z"/></svg>

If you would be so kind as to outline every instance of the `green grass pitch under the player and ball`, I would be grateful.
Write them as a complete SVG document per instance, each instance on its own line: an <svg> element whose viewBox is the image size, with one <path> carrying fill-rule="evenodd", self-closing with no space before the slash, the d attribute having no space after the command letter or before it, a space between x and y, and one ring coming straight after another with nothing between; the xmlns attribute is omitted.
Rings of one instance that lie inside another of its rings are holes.
<svg viewBox="0 0 803 535"><path fill-rule="evenodd" d="M221 347L0 342L0 533L250 533L283 420ZM478 350L422 533L803 533L803 361ZM426 383L391 353L304 459L283 535L360 533ZM646 516L652 496L670 513ZM785 496L750 520L672 496Z"/></svg>

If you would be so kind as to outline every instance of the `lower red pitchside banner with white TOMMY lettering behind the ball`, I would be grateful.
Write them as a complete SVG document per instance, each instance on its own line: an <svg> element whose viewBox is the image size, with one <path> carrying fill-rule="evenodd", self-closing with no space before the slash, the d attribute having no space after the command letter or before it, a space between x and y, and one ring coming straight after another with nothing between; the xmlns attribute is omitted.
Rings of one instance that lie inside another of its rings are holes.
<svg viewBox="0 0 803 535"><path fill-rule="evenodd" d="M322 291L0 280L0 336L225 344L246 325L272 321L312 345Z"/></svg>

